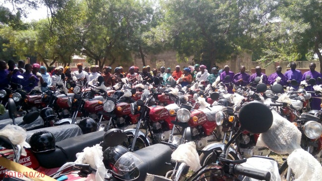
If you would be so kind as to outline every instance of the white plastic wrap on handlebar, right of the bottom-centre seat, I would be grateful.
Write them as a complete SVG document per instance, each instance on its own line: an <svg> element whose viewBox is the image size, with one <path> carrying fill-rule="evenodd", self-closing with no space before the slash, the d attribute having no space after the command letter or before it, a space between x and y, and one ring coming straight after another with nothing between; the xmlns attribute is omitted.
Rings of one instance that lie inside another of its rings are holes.
<svg viewBox="0 0 322 181"><path fill-rule="evenodd" d="M201 167L196 144L193 141L179 145L172 153L171 159L187 164L193 171L197 171Z"/></svg>

